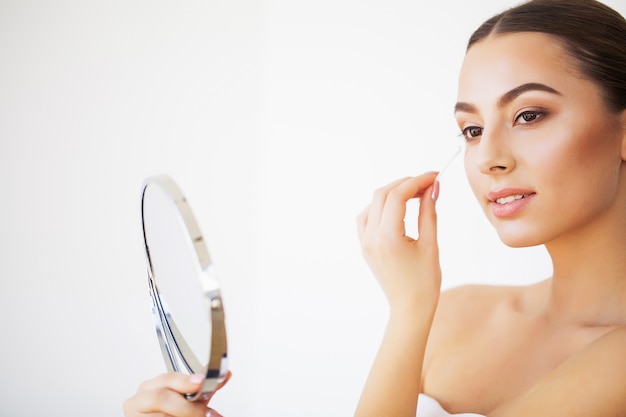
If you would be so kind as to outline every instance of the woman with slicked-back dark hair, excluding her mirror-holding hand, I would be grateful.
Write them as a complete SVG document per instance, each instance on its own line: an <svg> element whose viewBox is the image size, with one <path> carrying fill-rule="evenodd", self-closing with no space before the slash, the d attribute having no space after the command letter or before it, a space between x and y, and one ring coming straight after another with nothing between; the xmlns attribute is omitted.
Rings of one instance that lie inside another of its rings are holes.
<svg viewBox="0 0 626 417"><path fill-rule="evenodd" d="M440 295L436 174L379 189L358 225L390 317L356 416L626 416L626 21L594 0L493 17L455 116L487 218L509 246L544 244L553 275Z"/></svg>

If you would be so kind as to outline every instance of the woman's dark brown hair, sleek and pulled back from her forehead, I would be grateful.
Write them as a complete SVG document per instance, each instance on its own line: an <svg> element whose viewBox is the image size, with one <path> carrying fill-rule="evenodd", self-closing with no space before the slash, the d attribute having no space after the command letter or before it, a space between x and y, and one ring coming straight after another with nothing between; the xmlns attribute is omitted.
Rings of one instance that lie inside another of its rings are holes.
<svg viewBox="0 0 626 417"><path fill-rule="evenodd" d="M558 38L609 109L626 109L626 20L618 12L595 0L532 0L483 23L467 49L491 34L517 32Z"/></svg>

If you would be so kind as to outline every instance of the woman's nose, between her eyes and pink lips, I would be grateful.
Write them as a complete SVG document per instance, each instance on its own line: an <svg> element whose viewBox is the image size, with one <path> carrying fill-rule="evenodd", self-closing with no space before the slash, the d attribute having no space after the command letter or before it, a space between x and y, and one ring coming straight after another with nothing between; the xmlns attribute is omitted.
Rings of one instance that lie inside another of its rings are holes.
<svg viewBox="0 0 626 417"><path fill-rule="evenodd" d="M504 132L485 129L476 146L474 163L482 174L504 174L515 168L515 158Z"/></svg>

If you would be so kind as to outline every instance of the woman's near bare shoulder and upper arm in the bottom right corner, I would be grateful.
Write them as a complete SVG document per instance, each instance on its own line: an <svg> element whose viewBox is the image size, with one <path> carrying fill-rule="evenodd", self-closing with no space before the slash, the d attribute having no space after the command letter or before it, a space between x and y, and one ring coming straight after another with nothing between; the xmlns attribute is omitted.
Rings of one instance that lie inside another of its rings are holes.
<svg viewBox="0 0 626 417"><path fill-rule="evenodd" d="M516 401L491 416L626 415L626 326L569 357ZM567 393L567 395L563 395Z"/></svg>

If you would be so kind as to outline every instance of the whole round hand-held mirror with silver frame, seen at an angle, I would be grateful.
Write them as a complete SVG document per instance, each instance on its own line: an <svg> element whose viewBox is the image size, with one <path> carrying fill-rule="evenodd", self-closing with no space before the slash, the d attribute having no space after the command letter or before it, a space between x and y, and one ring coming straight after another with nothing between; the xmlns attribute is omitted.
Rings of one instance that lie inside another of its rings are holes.
<svg viewBox="0 0 626 417"><path fill-rule="evenodd" d="M224 307L200 228L168 176L148 178L141 193L148 285L159 346L169 371L202 373L190 400L206 398L227 371Z"/></svg>

